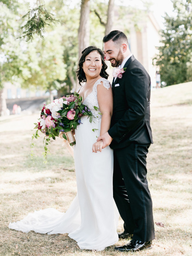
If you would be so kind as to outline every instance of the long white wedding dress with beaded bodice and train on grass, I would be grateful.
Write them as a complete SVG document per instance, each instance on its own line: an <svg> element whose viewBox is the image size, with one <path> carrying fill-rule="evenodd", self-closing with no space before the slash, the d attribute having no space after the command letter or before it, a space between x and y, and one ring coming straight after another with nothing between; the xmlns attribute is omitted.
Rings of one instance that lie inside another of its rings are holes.
<svg viewBox="0 0 192 256"><path fill-rule="evenodd" d="M9 228L48 234L69 233L80 249L104 250L118 241L116 227L119 213L113 201L113 151L108 146L102 152L93 153L92 146L99 136L101 115L97 101L97 85L111 85L101 78L93 91L84 100L84 105L93 113L93 122L87 116L81 118L76 133L74 159L77 180L77 195L67 212L48 208L29 213L23 220L9 224ZM93 129L98 129L94 130Z"/></svg>

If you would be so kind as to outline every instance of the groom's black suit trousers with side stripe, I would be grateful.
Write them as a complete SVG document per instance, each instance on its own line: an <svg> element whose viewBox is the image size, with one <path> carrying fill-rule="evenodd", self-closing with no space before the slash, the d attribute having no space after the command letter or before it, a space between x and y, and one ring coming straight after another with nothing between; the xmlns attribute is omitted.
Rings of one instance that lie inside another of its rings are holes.
<svg viewBox="0 0 192 256"><path fill-rule="evenodd" d="M146 178L149 146L131 143L113 151L113 198L125 230L140 241L154 239L152 200Z"/></svg>

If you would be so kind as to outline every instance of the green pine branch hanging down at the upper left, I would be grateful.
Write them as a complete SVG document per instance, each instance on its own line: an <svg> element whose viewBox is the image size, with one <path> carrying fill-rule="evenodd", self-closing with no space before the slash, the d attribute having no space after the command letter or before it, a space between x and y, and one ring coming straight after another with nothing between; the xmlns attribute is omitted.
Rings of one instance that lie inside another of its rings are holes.
<svg viewBox="0 0 192 256"><path fill-rule="evenodd" d="M35 8L30 9L29 12L22 17L22 19L28 17L28 21L20 28L23 32L18 38L26 38L26 41L32 41L33 36L37 34L44 39L43 33L45 33L45 25L50 26L51 23L55 24L60 22L60 20L55 20L52 16L53 14L47 12L45 9L45 4L41 5L41 0L37 0Z"/></svg>

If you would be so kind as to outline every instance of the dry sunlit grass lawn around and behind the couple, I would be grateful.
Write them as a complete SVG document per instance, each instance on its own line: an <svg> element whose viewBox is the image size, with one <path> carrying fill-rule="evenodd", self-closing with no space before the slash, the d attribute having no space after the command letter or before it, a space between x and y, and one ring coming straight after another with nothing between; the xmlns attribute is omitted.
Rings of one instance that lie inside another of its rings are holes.
<svg viewBox="0 0 192 256"><path fill-rule="evenodd" d="M64 235L22 233L8 228L34 210L49 207L65 212L76 195L73 158L57 138L49 145L48 163L43 163L43 134L30 147L33 123L39 113L0 117L0 256L107 256L80 250ZM148 183L153 199L156 239L152 250L140 256L192 255L192 82L151 92L151 127L154 144L149 148ZM118 231L122 230L119 220ZM119 240L116 245L125 244Z"/></svg>

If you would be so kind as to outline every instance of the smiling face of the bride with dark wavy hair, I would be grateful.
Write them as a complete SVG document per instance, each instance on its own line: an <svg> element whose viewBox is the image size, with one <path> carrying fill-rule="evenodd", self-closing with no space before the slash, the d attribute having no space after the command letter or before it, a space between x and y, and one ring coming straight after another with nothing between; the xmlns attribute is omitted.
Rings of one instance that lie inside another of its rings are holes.
<svg viewBox="0 0 192 256"><path fill-rule="evenodd" d="M102 59L97 51L90 52L83 63L83 71L86 77L96 78L101 73Z"/></svg>

